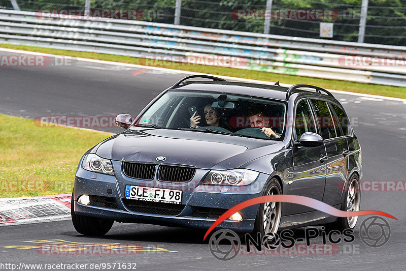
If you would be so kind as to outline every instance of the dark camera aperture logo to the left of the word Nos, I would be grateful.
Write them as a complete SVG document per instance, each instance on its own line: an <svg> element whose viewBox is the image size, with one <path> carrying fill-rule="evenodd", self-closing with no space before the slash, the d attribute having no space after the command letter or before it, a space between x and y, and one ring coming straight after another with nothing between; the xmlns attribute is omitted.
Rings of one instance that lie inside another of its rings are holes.
<svg viewBox="0 0 406 271"><path fill-rule="evenodd" d="M220 245L221 241L223 241L224 244ZM240 237L232 230L218 230L210 237L209 250L212 255L219 260L231 260L239 254L240 249Z"/></svg>

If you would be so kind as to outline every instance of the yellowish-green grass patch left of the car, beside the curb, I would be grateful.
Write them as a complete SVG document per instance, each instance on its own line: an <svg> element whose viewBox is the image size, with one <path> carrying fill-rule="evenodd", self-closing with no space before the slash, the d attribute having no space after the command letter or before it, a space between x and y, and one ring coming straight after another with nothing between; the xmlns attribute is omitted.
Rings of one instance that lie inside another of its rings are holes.
<svg viewBox="0 0 406 271"><path fill-rule="evenodd" d="M0 198L71 193L80 158L107 137L0 114Z"/></svg>

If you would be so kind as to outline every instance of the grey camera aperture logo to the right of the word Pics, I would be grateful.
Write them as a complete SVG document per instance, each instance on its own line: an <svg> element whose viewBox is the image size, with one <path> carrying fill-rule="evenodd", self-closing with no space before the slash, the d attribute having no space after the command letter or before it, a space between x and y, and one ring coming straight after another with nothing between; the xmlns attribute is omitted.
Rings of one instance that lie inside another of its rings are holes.
<svg viewBox="0 0 406 271"><path fill-rule="evenodd" d="M373 231L378 231L374 233ZM362 242L372 248L385 245L390 238L389 223L378 216L365 219L359 228L359 237Z"/></svg>

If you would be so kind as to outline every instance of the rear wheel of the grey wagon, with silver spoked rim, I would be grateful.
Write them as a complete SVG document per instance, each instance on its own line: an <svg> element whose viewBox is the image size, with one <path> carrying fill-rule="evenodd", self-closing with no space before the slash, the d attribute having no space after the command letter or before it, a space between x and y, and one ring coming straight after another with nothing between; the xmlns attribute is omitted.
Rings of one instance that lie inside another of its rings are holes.
<svg viewBox="0 0 406 271"><path fill-rule="evenodd" d="M348 182L346 182L343 188L344 195L341 202L342 211L358 211L361 203L361 191L359 186L359 177L357 174L353 174ZM353 229L357 224L358 217L342 218L339 217L335 222L325 225L327 230L339 230Z"/></svg>

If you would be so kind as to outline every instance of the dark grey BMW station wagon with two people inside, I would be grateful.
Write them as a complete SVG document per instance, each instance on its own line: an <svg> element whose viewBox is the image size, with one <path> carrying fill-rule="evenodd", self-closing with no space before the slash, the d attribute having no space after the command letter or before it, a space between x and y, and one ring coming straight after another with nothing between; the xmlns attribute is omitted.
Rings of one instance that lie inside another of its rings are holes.
<svg viewBox="0 0 406 271"><path fill-rule="evenodd" d="M361 149L343 106L323 88L189 76L116 124L125 130L80 160L72 195L79 233L106 234L114 221L208 229L227 209L263 195L359 210ZM356 222L269 202L219 228L265 234Z"/></svg>

